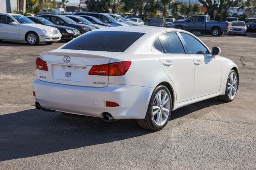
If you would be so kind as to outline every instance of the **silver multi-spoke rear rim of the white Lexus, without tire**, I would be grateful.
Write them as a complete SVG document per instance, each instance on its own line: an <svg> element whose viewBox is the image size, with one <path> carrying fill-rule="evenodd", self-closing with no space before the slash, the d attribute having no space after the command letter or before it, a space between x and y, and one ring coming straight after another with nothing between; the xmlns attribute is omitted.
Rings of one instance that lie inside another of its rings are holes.
<svg viewBox="0 0 256 170"><path fill-rule="evenodd" d="M155 98L152 107L152 116L158 126L162 126L170 114L170 98L165 90L160 90Z"/></svg>

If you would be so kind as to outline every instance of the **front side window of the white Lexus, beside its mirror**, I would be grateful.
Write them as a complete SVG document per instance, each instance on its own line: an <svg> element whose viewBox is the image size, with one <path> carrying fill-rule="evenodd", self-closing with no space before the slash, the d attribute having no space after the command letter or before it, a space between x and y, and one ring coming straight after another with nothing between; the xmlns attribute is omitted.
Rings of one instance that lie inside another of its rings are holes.
<svg viewBox="0 0 256 170"><path fill-rule="evenodd" d="M209 51L197 39L186 33L180 33L190 54L209 54Z"/></svg>

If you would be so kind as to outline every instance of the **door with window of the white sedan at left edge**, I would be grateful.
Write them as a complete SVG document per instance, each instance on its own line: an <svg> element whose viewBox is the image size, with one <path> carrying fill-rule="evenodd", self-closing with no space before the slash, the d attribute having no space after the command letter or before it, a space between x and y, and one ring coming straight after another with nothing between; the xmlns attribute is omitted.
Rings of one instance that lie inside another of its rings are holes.
<svg viewBox="0 0 256 170"><path fill-rule="evenodd" d="M2 39L19 39L20 26L12 25L14 20L6 15L0 15L0 38Z"/></svg>

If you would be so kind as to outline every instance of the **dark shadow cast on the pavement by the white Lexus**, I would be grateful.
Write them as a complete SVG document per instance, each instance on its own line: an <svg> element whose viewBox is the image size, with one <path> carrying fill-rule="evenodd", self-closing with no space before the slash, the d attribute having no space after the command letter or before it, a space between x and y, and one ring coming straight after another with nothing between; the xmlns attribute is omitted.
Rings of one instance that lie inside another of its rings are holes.
<svg viewBox="0 0 256 170"><path fill-rule="evenodd" d="M172 112L170 120L222 104L209 99ZM100 118L29 109L0 115L0 161L38 156L153 133L136 120L104 122Z"/></svg>

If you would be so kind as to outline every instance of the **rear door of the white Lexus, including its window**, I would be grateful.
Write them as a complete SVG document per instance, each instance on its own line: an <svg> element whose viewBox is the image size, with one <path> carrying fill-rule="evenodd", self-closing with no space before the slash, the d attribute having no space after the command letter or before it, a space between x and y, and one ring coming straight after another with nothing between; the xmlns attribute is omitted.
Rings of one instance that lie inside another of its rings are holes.
<svg viewBox="0 0 256 170"><path fill-rule="evenodd" d="M177 102L190 100L194 88L194 62L177 33L160 35L154 42L152 53L159 58L164 71L174 83Z"/></svg>

